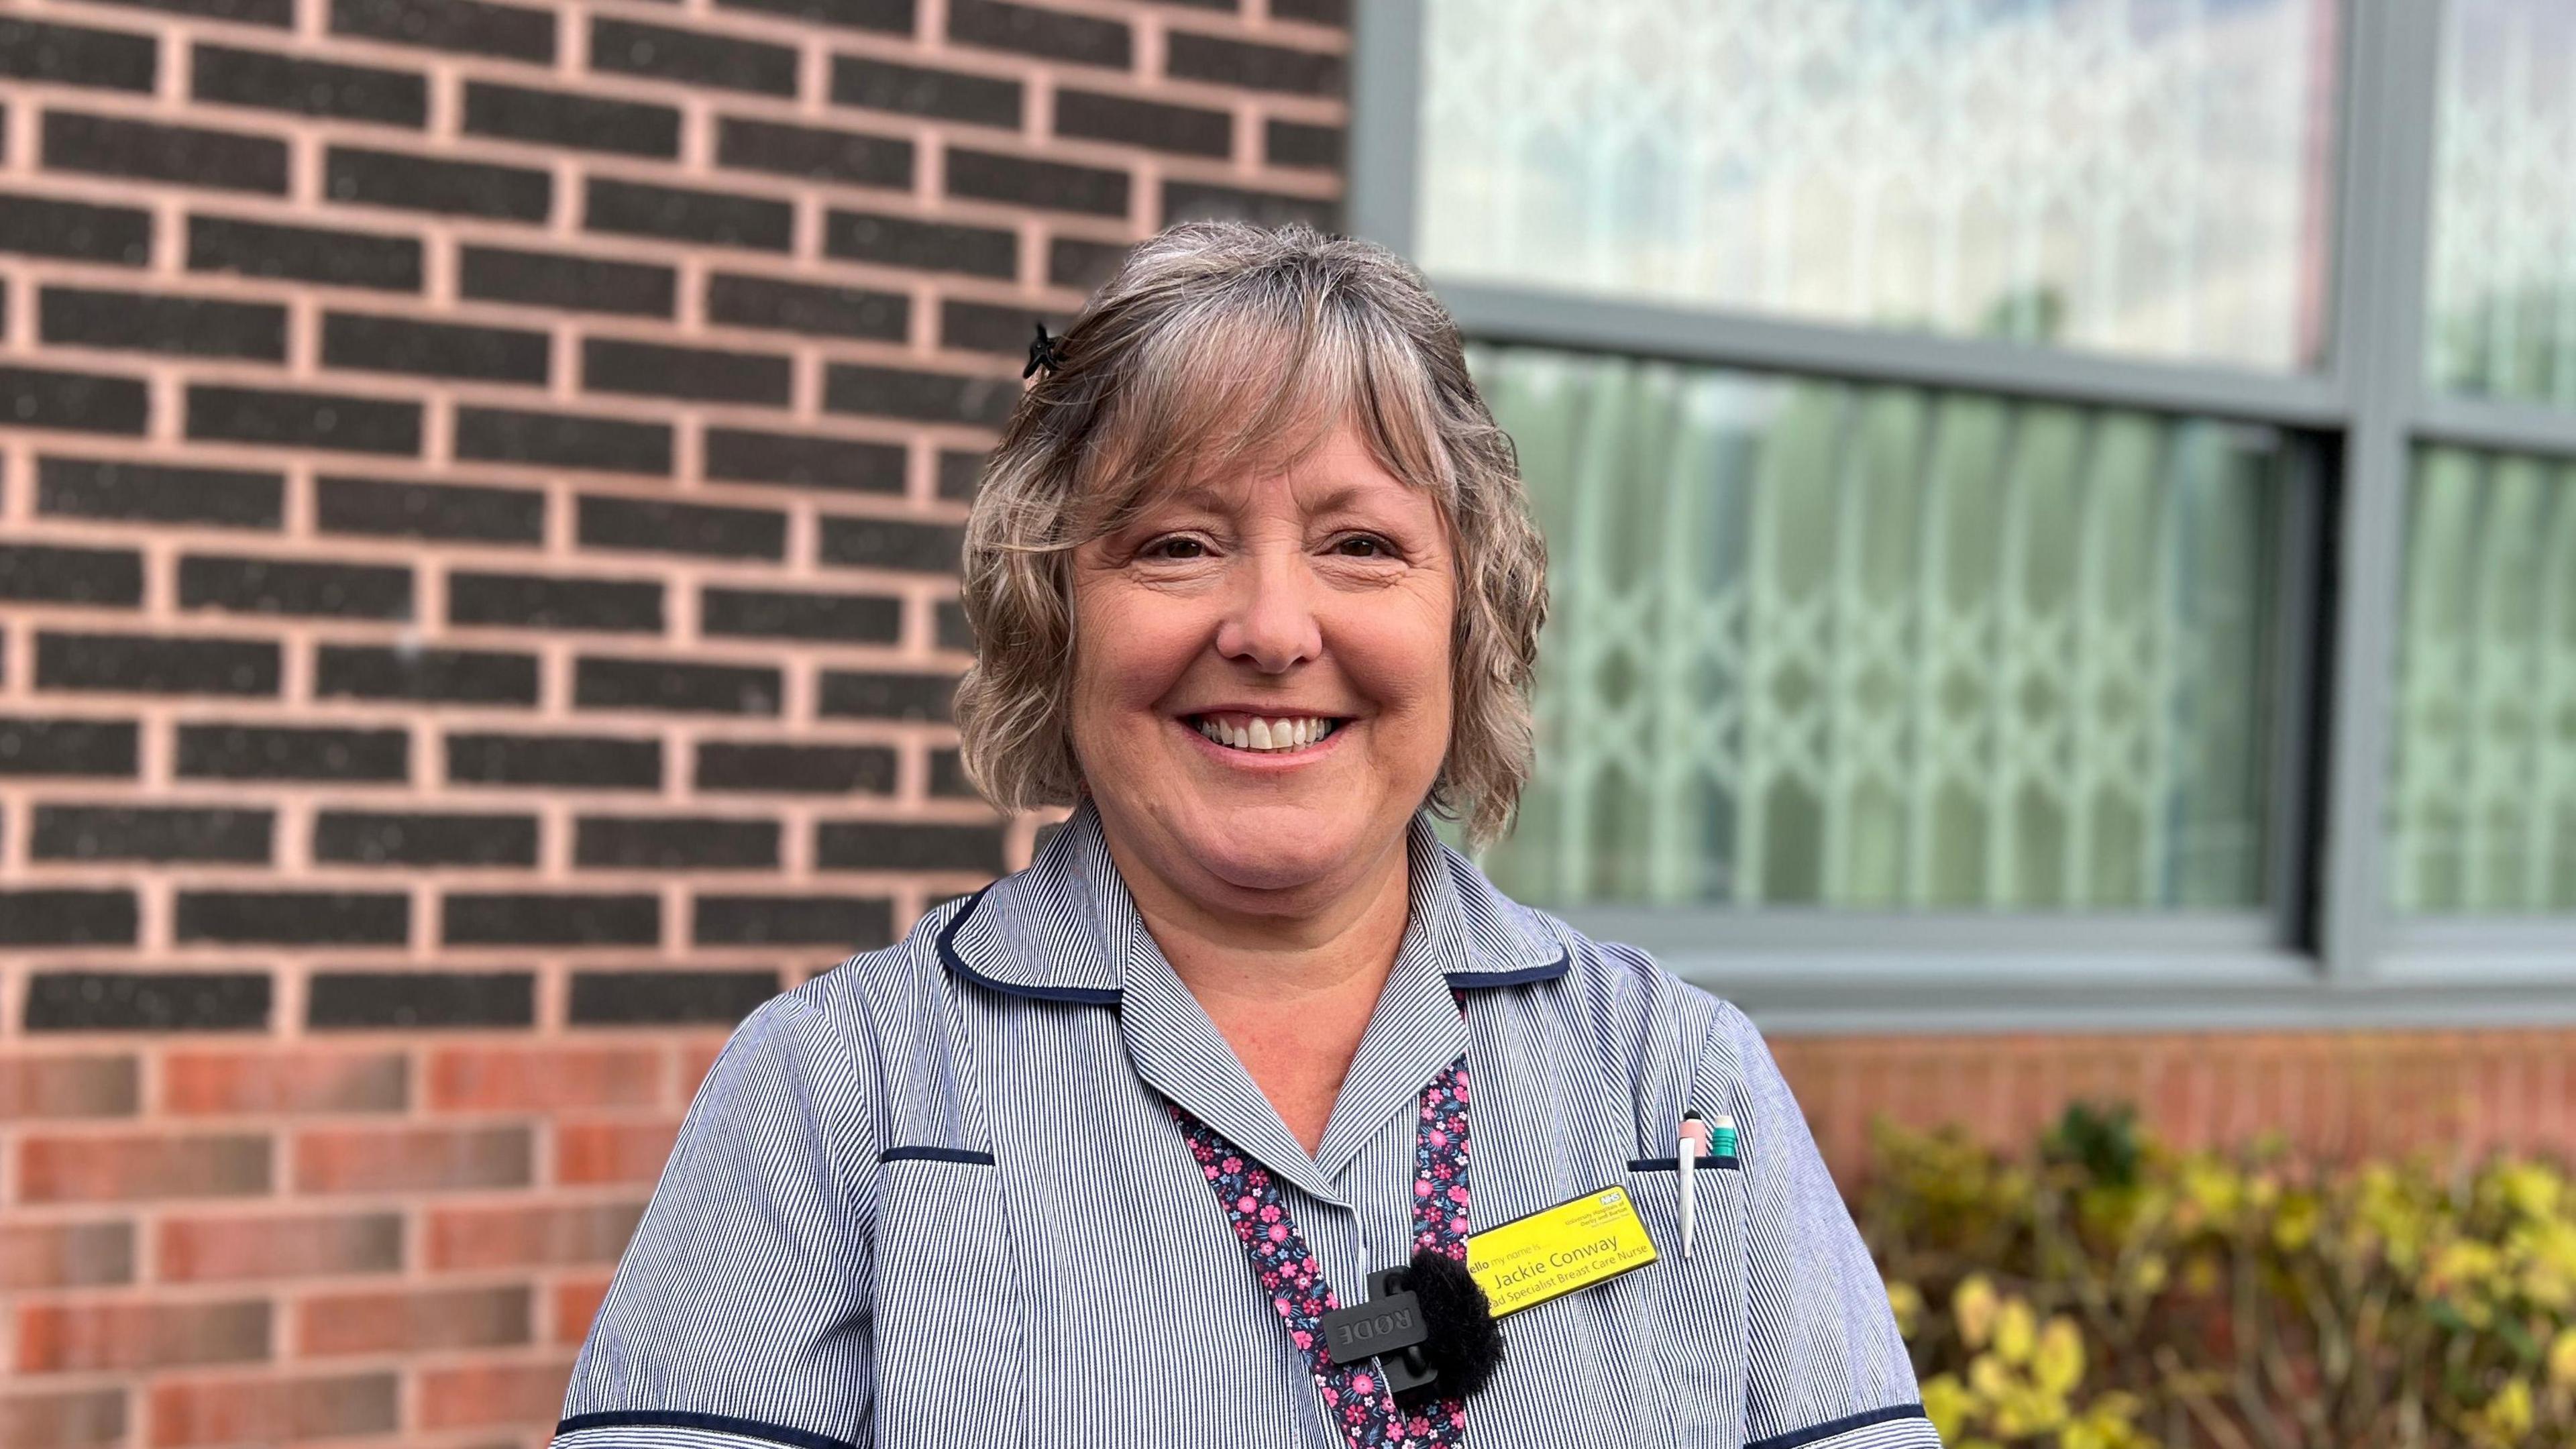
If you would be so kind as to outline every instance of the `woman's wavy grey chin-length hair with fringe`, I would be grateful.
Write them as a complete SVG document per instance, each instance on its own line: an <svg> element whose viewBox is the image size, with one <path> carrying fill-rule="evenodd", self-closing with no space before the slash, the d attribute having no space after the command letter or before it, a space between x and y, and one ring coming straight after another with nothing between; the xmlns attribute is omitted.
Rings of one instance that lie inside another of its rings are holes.
<svg viewBox="0 0 2576 1449"><path fill-rule="evenodd" d="M1530 776L1548 554L1512 438L1422 276L1303 222L1182 222L1126 255L1056 356L1020 394L966 518L966 779L1002 810L1082 794L1066 732L1079 544L1164 487L1296 462L1350 418L1386 472L1432 495L1458 559L1450 745L1430 804L1473 843L1510 830Z"/></svg>

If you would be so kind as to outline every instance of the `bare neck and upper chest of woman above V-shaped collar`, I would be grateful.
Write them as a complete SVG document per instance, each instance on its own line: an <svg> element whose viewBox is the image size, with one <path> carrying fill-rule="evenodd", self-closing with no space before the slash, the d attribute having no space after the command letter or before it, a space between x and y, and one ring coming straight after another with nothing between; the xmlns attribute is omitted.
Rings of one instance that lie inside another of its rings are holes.
<svg viewBox="0 0 2576 1449"><path fill-rule="evenodd" d="M1172 972L1311 1155L1404 944L1404 838L1358 877L1358 890L1275 910L1211 910L1115 843L1110 859Z"/></svg>

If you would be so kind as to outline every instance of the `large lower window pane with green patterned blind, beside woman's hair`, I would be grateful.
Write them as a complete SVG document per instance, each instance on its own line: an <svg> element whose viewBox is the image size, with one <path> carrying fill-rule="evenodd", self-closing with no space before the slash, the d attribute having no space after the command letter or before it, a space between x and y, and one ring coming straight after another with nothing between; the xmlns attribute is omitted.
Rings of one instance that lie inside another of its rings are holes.
<svg viewBox="0 0 2576 1449"><path fill-rule="evenodd" d="M2264 428L1471 348L1548 536L1553 908L2251 908Z"/></svg>

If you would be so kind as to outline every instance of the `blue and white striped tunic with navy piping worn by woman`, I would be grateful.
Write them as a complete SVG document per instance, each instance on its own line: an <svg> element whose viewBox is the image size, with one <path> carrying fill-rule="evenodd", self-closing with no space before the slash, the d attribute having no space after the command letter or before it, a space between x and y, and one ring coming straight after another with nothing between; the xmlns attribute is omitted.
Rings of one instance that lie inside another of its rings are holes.
<svg viewBox="0 0 2576 1449"><path fill-rule="evenodd" d="M1453 1003L1453 987L1466 1011ZM1466 1055L1471 1222L1625 1183L1662 1261L1502 1320L1473 1449L1937 1449L1752 1024L1412 828L1412 918L1316 1155L1144 931L1097 815L760 1006L680 1127L556 1449L1342 1449L1164 1098L1265 1163L1345 1302L1409 1258L1414 1098ZM1685 1263L1674 1134L1700 1168Z"/></svg>

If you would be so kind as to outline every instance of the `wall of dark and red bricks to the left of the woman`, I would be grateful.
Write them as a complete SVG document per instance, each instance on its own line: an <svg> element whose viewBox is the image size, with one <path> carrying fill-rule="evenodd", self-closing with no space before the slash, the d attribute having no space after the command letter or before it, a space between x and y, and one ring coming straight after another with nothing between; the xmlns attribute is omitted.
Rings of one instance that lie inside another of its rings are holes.
<svg viewBox="0 0 2576 1449"><path fill-rule="evenodd" d="M1340 0L0 3L0 1444L541 1444L724 1034L1025 859L1030 320Z"/></svg>

